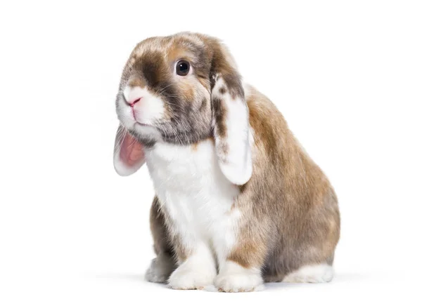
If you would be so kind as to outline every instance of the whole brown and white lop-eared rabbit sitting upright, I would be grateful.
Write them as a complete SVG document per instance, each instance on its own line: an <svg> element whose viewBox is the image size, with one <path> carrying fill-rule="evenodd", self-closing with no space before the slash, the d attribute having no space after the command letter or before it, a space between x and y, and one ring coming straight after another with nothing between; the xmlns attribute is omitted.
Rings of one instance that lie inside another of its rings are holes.
<svg viewBox="0 0 422 306"><path fill-rule="evenodd" d="M331 281L340 236L333 187L219 39L141 41L116 111L115 171L146 164L155 189L147 281L224 292Z"/></svg>

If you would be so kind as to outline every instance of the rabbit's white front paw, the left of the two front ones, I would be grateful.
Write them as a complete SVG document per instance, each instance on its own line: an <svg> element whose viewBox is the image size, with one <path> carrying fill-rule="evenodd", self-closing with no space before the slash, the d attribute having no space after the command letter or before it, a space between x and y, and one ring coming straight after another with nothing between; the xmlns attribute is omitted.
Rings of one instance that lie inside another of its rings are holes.
<svg viewBox="0 0 422 306"><path fill-rule="evenodd" d="M170 275L169 286L179 290L202 290L212 285L215 274L215 270L206 270L200 266L195 269L195 267L183 264Z"/></svg>

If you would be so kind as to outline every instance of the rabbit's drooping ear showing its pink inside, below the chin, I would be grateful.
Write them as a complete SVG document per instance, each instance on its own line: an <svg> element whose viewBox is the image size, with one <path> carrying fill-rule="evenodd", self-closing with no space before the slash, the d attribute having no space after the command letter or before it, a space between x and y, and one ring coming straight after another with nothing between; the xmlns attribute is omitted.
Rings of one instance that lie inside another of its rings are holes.
<svg viewBox="0 0 422 306"><path fill-rule="evenodd" d="M135 173L145 162L143 146L122 125L117 128L113 161L122 176Z"/></svg>

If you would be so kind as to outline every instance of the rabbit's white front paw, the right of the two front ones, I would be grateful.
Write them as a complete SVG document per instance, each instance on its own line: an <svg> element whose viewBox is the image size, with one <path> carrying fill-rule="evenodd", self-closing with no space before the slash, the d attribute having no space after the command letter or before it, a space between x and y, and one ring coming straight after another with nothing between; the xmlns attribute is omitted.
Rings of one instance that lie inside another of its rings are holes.
<svg viewBox="0 0 422 306"><path fill-rule="evenodd" d="M214 286L218 291L248 292L260 291L264 288L259 270L245 269L234 263L230 265L231 267L215 278Z"/></svg>

